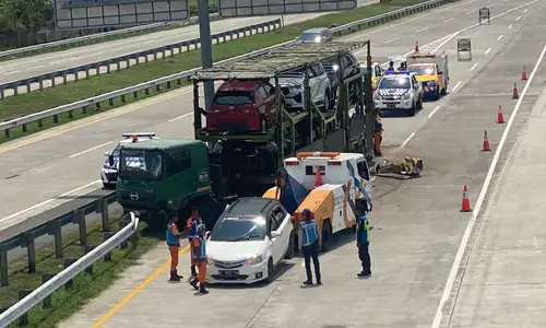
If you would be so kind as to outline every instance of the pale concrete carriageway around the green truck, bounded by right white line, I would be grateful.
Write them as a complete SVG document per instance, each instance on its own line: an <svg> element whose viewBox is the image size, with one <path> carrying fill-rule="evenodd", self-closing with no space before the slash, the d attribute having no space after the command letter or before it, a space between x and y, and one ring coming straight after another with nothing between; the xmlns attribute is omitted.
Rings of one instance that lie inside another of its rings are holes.
<svg viewBox="0 0 546 328"><path fill-rule="evenodd" d="M491 24L475 26L477 9L486 5L491 10ZM376 58L411 51L416 40L423 50L443 47L450 54L447 97L426 103L415 117L383 119L385 154L395 159L422 156L426 174L414 180L377 180L375 212L370 215L376 226L372 256L377 278L368 282L347 279L358 270L356 249L354 245L342 245L322 257L323 288L301 292L301 270L296 268L268 286L215 290L202 298L206 301L199 302L206 320L200 317L200 323L191 326L226 327L230 323L228 327L317 327L320 317L321 325L360 327L357 323L364 320L363 308L369 309L366 323L373 327L430 325L471 219L471 214L459 213L462 186L468 185L471 199L477 198L494 156L480 152L483 131L488 130L495 150L505 128L495 124L498 105L505 108L506 116L510 115L515 103L511 99L512 83L519 82L522 66L531 70L544 46L537 40L542 30L533 30L544 13L544 5L536 0L462 1L346 37L369 37ZM460 36L472 37L472 61L455 59L456 37L449 36L460 31ZM544 81L539 71L521 102L520 115L529 115ZM523 83L519 84L521 90ZM62 203L58 195L67 190L75 190L69 192L74 197L97 188L102 153L112 148L122 132L152 130L159 136L191 137L190 97L190 90L182 89L0 147L4 160L0 163L0 178L4 178L0 199L8 204L0 208L0 230L25 220L32 212ZM512 132L518 132L523 122L514 124ZM510 134L506 144L512 144L513 138ZM24 212L14 214L20 211ZM98 320L123 297L128 285L135 286L135 277L144 280L146 273L156 270L158 266L153 265L165 259L165 250L158 249L155 255L144 261L145 267L131 269L140 271L123 279L119 289L104 293L67 325L75 327L85 321L88 327L90 321ZM361 283L369 286L363 288ZM162 326L169 317L162 312L168 307L152 311L150 304L151 300L167 297L162 294L167 289L164 284L163 279L152 282L107 324L153 319ZM176 295L177 306L185 308L197 302L188 293L183 286ZM309 306L317 300L332 302ZM336 303L344 304L343 311L332 308ZM234 315L236 311L238 315ZM192 318L183 316L180 320Z"/></svg>

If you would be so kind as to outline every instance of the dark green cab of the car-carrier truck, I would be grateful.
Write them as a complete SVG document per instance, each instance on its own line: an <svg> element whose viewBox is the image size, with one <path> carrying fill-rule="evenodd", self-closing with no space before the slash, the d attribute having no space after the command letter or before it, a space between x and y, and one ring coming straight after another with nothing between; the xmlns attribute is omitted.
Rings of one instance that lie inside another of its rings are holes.
<svg viewBox="0 0 546 328"><path fill-rule="evenodd" d="M154 138L121 147L117 187L123 211L135 211L151 225L173 215L181 225L197 207L205 224L213 224L224 206L215 201L204 142Z"/></svg>

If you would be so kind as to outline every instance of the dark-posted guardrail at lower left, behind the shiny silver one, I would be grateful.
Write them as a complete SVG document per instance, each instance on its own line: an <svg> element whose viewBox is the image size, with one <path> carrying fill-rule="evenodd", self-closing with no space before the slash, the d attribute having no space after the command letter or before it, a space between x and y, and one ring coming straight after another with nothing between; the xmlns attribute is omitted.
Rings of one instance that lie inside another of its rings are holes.
<svg viewBox="0 0 546 328"><path fill-rule="evenodd" d="M9 284L8 279L8 251L24 247L27 249L28 273L36 272L36 249L35 239L52 235L55 237L55 255L57 258L62 258L62 226L67 224L78 224L80 232L80 243L86 245L87 227L85 225L85 216L92 213L99 213L102 219L103 232L108 232L110 222L108 206L117 201L116 191L86 202L82 207L54 218L40 225L20 233L11 238L0 242L0 286ZM4 327L0 325L0 327Z"/></svg>

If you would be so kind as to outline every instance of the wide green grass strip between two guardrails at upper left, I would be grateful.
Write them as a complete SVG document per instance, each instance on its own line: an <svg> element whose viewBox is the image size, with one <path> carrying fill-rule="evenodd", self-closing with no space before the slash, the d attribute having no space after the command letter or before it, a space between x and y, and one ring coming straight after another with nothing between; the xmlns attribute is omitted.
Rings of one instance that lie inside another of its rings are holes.
<svg viewBox="0 0 546 328"><path fill-rule="evenodd" d="M295 37L300 35L302 31L311 27L342 25L420 2L425 2L425 0L392 0L387 4L370 4L360 7L353 11L331 13L314 20L287 25L283 28L275 30L268 34L258 34L241 39L230 40L225 44L214 45L213 59L214 61L218 61L260 48L284 43L294 39ZM158 79L200 66L201 55L199 51L182 52L174 57L167 57L165 59L133 66L130 69L114 71L109 74L92 75L90 77L90 79L62 84L56 86L55 89L48 87L44 91L31 92L27 94L21 94L19 96L10 96L4 98L3 101L0 101L0 120L16 118L40 110L54 108L56 106L70 104L87 97L93 97L99 94L146 82L153 79ZM176 87L178 87L176 83L173 83L173 89ZM131 95L128 95L127 103L154 96L165 91L166 89L162 89L159 91L151 89L149 95L142 94L139 96L139 98L133 98ZM37 122L28 124L25 132L22 131L21 128L14 128L10 132L10 138L3 134L0 136L0 143L26 136L28 133L44 130L59 124L72 121L82 117L119 107L127 103L122 103L119 98L117 98L114 101L114 106L110 106L108 102L105 102L104 104L102 104L102 108L99 109L87 108L86 113L78 110L78 113L74 112L72 114L62 114L59 115L58 124L54 124L52 119L45 119L41 124L41 127L38 127Z"/></svg>

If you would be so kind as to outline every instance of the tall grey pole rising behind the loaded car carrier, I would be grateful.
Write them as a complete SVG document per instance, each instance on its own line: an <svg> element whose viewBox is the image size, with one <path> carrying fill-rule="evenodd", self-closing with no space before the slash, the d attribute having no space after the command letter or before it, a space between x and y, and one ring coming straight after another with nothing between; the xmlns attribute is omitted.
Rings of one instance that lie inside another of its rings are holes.
<svg viewBox="0 0 546 328"><path fill-rule="evenodd" d="M212 37L211 37L211 17L209 16L209 1L199 0L199 39L201 43L201 67L212 68ZM205 110L212 104L214 97L214 82L204 82Z"/></svg>

